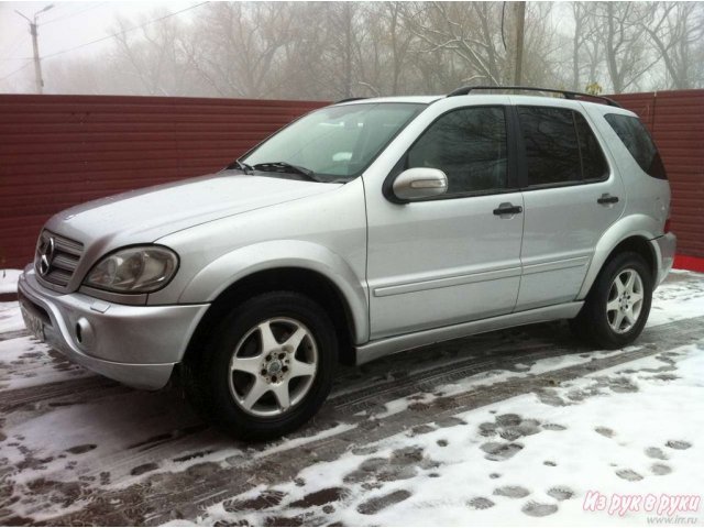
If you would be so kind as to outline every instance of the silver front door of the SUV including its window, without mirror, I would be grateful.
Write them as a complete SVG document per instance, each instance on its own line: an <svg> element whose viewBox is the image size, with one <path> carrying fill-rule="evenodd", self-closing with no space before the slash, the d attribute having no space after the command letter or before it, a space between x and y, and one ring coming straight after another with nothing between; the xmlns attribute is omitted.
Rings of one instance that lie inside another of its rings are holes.
<svg viewBox="0 0 704 528"><path fill-rule="evenodd" d="M449 185L440 198L396 205L365 185L372 339L514 309L524 204L506 123L503 106L466 107L426 129L393 174L443 170Z"/></svg>

